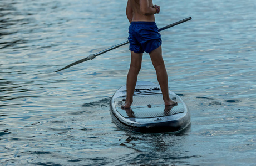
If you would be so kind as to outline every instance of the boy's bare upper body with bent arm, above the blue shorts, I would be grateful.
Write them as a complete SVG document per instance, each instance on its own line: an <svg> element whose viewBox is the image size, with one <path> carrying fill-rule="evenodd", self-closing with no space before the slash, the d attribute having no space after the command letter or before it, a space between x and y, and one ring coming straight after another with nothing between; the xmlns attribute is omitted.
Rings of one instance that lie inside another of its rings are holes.
<svg viewBox="0 0 256 166"><path fill-rule="evenodd" d="M157 6L159 7L159 6ZM160 11L160 7L159 7ZM129 21L154 22L156 8L152 0L128 0L126 14ZM130 18L129 18L130 15Z"/></svg>

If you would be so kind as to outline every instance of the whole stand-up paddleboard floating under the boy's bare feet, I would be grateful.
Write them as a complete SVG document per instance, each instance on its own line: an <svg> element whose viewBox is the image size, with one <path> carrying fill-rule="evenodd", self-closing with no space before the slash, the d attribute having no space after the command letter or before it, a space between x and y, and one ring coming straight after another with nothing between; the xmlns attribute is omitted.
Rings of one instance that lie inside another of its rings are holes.
<svg viewBox="0 0 256 166"><path fill-rule="evenodd" d="M122 109L126 85L115 92L110 101L110 113L117 126L136 132L174 132L190 124L190 112L181 98L169 91L177 106L164 106L160 86L138 81L131 108Z"/></svg>

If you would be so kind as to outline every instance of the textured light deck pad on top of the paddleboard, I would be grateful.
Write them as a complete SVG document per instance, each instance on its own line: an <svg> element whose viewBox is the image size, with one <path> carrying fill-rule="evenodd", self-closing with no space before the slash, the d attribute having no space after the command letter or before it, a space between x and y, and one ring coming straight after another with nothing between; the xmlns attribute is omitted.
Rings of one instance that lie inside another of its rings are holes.
<svg viewBox="0 0 256 166"><path fill-rule="evenodd" d="M126 96L115 98L114 102L116 110L125 118L162 117L184 112L184 105L177 95L169 94L170 98L173 101L176 101L178 105L165 108L163 96L159 93L160 90L150 90L149 94L147 94L148 91L149 90L140 90L139 92L135 92L132 106L128 109L121 108L121 105L125 102L123 99L125 100Z"/></svg>

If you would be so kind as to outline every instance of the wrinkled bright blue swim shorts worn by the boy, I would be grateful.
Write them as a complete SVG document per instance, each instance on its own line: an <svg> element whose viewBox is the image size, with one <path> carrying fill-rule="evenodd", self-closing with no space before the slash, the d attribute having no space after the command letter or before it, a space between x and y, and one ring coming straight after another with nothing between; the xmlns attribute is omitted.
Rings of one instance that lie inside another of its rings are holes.
<svg viewBox="0 0 256 166"><path fill-rule="evenodd" d="M135 53L150 53L162 44L155 22L131 22L128 40Z"/></svg>

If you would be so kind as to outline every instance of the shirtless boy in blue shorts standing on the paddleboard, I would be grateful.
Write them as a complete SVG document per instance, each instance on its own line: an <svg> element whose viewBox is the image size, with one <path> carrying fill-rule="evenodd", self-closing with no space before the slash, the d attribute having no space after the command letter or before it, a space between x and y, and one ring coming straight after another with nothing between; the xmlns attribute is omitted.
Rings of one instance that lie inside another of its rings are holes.
<svg viewBox="0 0 256 166"><path fill-rule="evenodd" d="M127 96L122 108L130 108L134 94L137 75L141 69L142 55L144 51L149 53L152 64L156 70L165 106L173 106L177 103L169 97L168 75L162 57L161 35L155 24L154 14L160 12L160 6L153 5L152 0L128 0L126 15L131 23L129 27L129 42L131 51L131 64L127 75Z"/></svg>

